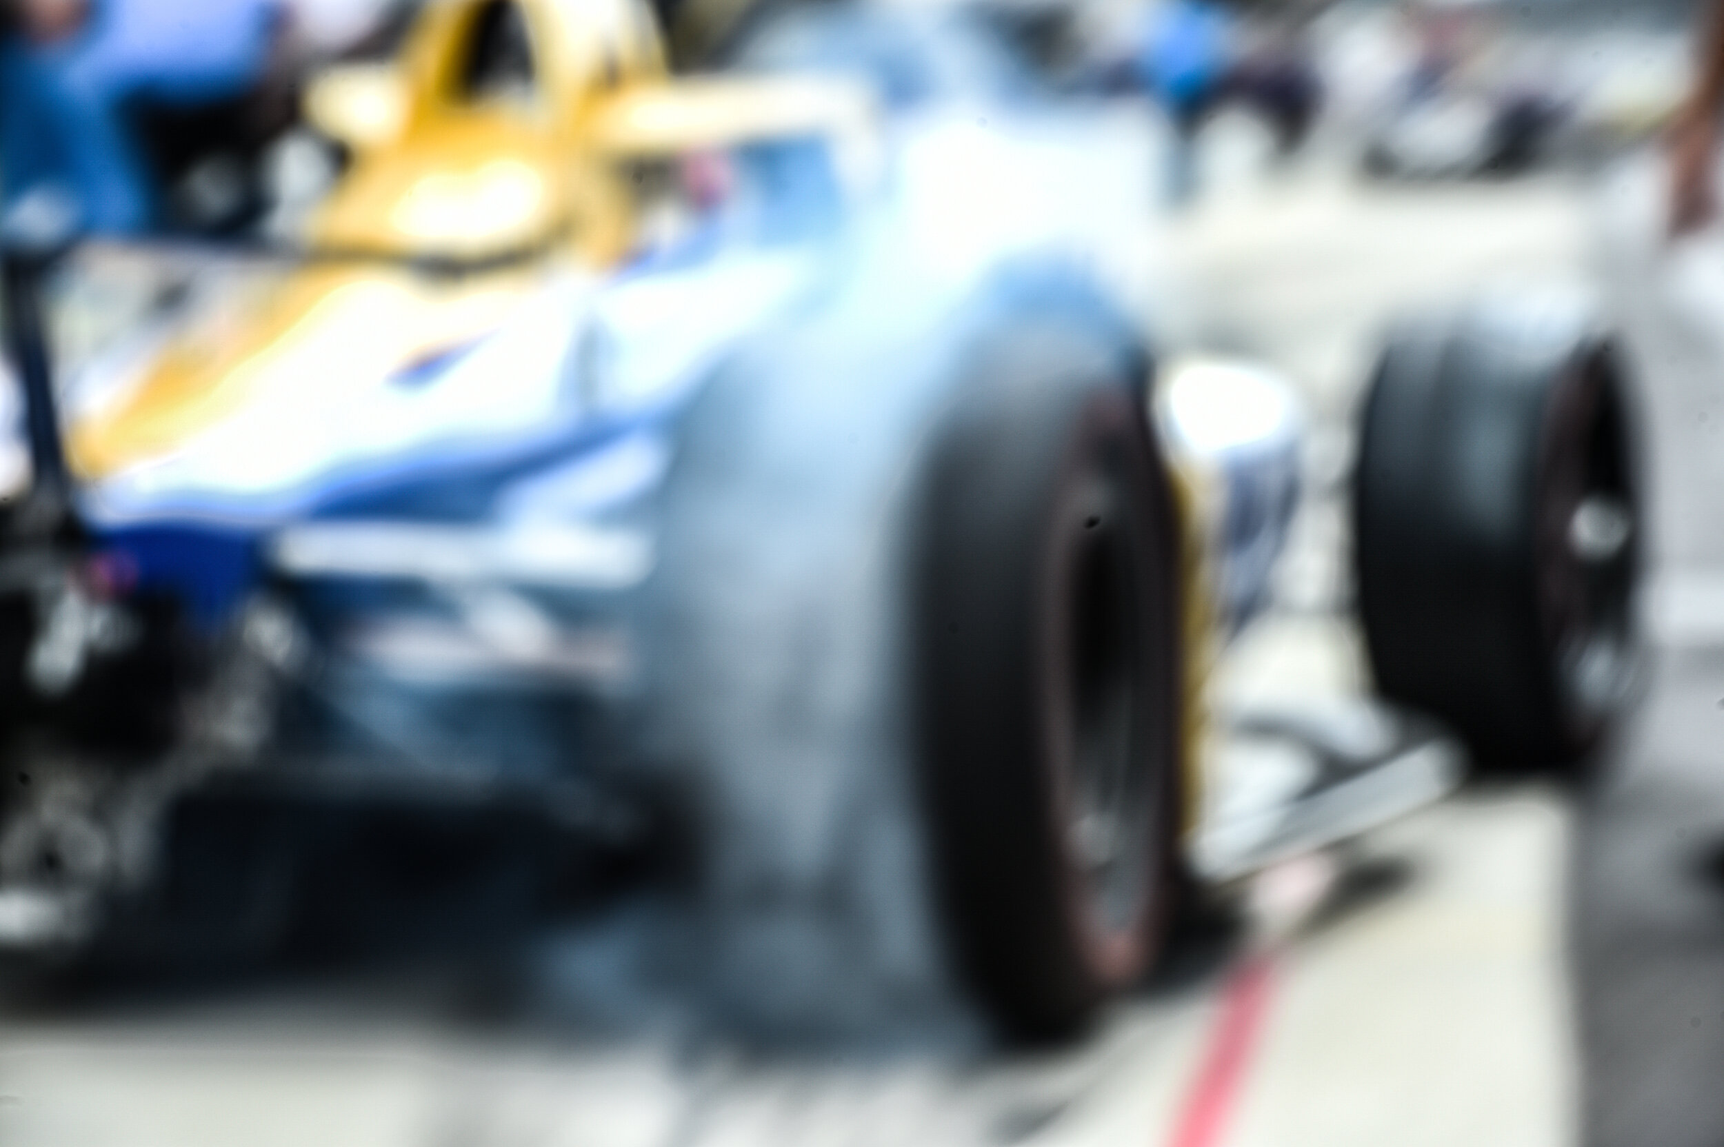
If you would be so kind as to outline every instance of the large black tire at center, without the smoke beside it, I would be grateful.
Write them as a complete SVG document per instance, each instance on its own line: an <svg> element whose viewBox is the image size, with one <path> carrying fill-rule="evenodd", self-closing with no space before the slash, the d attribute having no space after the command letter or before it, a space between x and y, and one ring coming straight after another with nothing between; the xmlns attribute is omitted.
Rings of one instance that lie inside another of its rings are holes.
<svg viewBox="0 0 1724 1147"><path fill-rule="evenodd" d="M1029 1037L1143 975L1181 746L1177 536L1141 400L1036 334L995 350L943 427L914 570L950 933Z"/></svg>

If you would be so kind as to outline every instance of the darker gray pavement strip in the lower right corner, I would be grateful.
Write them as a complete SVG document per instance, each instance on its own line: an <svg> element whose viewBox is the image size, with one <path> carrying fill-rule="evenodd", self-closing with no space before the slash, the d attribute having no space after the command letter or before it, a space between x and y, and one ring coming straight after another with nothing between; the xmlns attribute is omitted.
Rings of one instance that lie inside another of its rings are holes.
<svg viewBox="0 0 1724 1147"><path fill-rule="evenodd" d="M1650 684L1574 854L1590 1147L1724 1142L1724 653L1664 654Z"/></svg>

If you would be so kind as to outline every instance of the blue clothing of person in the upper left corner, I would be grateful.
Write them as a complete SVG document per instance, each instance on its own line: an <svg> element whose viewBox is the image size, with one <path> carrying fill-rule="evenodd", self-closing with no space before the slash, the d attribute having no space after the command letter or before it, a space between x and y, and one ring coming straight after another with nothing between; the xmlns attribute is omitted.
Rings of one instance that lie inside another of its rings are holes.
<svg viewBox="0 0 1724 1147"><path fill-rule="evenodd" d="M103 0L57 45L0 41L0 203L52 186L90 231L150 226L155 188L119 108L233 98L262 74L281 0Z"/></svg>

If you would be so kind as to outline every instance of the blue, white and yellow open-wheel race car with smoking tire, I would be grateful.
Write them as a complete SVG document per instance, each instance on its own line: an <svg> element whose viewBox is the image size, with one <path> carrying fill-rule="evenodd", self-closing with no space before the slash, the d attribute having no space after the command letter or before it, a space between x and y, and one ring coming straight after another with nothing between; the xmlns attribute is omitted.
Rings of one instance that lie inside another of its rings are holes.
<svg viewBox="0 0 1724 1147"><path fill-rule="evenodd" d="M798 19L757 59L840 50ZM1260 367L1157 369L1141 124L888 98L955 33L865 19L843 78L671 81L624 0L445 0L314 86L355 160L303 246L9 220L9 947L224 966L655 889L741 1030L1045 1038L1140 982L1191 877L1452 787L1400 710L1205 711L1302 418ZM1574 561L1521 558L1593 561L1631 491L1571 480L1608 434L1515 363L1379 375L1359 568L1384 684L1526 766L1614 710L1467 708L1505 649L1569 680ZM1524 513L1409 425L1483 425ZM1507 604L1445 646L1467 594Z"/></svg>

